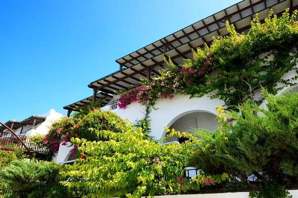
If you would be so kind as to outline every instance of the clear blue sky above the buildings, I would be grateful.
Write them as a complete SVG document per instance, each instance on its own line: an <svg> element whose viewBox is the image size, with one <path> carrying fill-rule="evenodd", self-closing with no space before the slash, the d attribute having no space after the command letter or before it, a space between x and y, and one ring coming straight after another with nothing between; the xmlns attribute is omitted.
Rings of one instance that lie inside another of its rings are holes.
<svg viewBox="0 0 298 198"><path fill-rule="evenodd" d="M92 95L116 59L239 0L2 0L0 121Z"/></svg>

